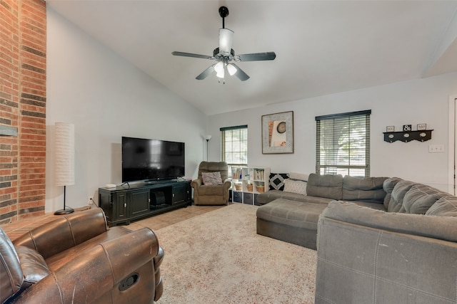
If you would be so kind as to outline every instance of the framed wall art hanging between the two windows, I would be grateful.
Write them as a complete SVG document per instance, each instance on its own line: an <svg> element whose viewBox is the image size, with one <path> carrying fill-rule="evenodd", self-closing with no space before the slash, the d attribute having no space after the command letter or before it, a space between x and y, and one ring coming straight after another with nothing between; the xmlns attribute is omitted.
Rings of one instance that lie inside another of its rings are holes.
<svg viewBox="0 0 457 304"><path fill-rule="evenodd" d="M293 111L262 116L262 153L293 153Z"/></svg>

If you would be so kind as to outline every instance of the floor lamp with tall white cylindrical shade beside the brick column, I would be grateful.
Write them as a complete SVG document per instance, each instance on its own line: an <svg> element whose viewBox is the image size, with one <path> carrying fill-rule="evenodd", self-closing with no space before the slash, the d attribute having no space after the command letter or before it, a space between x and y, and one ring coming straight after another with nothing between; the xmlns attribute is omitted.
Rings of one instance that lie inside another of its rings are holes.
<svg viewBox="0 0 457 304"><path fill-rule="evenodd" d="M70 214L74 212L65 205L66 186L74 184L74 125L65 122L56 122L54 167L56 186L64 186L64 209L54 214Z"/></svg>

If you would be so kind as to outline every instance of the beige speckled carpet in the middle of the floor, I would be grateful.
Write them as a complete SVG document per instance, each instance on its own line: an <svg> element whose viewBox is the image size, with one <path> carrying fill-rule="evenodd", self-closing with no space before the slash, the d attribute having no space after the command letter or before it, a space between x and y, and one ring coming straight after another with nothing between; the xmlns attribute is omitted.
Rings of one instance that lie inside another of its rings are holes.
<svg viewBox="0 0 457 304"><path fill-rule="evenodd" d="M157 230L158 303L314 303L316 251L256 234L256 210L231 204Z"/></svg>

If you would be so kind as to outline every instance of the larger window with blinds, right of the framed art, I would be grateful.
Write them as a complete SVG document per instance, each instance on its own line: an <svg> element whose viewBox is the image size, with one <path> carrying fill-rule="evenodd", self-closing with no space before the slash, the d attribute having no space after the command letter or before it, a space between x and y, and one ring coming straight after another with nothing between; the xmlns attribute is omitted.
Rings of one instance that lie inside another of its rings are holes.
<svg viewBox="0 0 457 304"><path fill-rule="evenodd" d="M316 173L370 176L370 115L316 116Z"/></svg>

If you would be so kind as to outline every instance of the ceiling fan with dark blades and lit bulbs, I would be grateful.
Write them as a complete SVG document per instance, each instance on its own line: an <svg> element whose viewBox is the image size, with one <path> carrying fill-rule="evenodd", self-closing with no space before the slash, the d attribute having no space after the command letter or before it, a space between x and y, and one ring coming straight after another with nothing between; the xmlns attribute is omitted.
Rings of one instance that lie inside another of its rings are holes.
<svg viewBox="0 0 457 304"><path fill-rule="evenodd" d="M231 48L231 44L233 42L233 31L229 28L225 28L224 22L225 17L229 16L229 9L227 9L226 6L221 6L219 8L219 15L222 17L222 28L219 28L219 48L214 49L213 56L176 51L171 52L174 56L203 58L218 61L218 63L214 63L214 65L211 65L209 68L204 70L196 77L196 79L203 80L211 75L211 73L216 72L216 76L219 79L224 79L224 83L226 73L229 73L229 75L235 75L241 81L248 80L249 76L244 73L238 65L233 63L233 61L272 61L276 58L276 54L274 52L235 55L235 51Z"/></svg>

